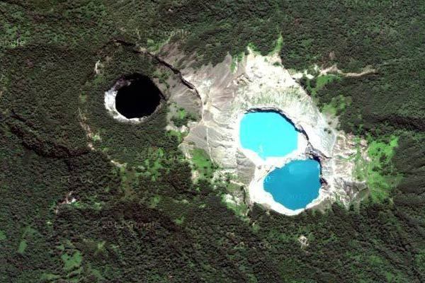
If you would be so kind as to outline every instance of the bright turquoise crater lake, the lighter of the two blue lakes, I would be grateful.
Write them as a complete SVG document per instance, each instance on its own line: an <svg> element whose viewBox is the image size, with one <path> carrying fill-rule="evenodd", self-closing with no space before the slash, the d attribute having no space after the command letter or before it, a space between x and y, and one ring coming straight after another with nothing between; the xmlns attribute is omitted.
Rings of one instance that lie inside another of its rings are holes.
<svg viewBox="0 0 425 283"><path fill-rule="evenodd" d="M249 112L240 124L242 146L255 151L263 160L285 156L297 149L297 138L293 124L278 112Z"/></svg>

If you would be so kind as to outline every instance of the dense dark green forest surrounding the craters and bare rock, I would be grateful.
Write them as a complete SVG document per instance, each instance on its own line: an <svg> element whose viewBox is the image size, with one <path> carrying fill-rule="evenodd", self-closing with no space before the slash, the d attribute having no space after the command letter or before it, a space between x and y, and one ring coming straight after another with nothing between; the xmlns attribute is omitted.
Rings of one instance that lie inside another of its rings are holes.
<svg viewBox="0 0 425 283"><path fill-rule="evenodd" d="M424 14L423 0L0 1L0 282L424 282ZM346 132L398 138L385 200L240 217L225 180L192 182L165 107L139 125L103 107L121 76L156 76L135 46L217 64L279 35L288 69L376 70L311 95L351 101Z"/></svg>

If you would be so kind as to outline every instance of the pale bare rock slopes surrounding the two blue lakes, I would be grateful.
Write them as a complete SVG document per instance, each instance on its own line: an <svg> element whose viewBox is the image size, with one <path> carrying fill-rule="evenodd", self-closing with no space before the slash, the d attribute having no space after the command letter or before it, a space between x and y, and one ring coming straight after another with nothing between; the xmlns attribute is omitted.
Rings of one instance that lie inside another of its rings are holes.
<svg viewBox="0 0 425 283"><path fill-rule="evenodd" d="M164 61L177 64L181 58L169 55ZM329 126L332 121L319 112L310 96L280 64L277 54L264 57L249 52L236 71L231 70L231 64L232 57L227 56L215 67L181 70L182 79L191 83L202 101L202 118L188 125L190 132L181 144L186 155L190 157L193 148L204 149L212 161L247 185L249 202L283 214L298 214L304 209L294 211L275 202L263 190L263 178L276 166L293 159L315 157L322 164L319 197L307 209L335 200L348 204L359 197L365 185L353 176L354 161L350 157L358 153L354 137ZM180 100L177 95L173 98L171 94L171 98ZM298 149L284 158L266 161L243 149L239 144L239 122L244 113L255 109L276 110L288 117L300 131Z"/></svg>

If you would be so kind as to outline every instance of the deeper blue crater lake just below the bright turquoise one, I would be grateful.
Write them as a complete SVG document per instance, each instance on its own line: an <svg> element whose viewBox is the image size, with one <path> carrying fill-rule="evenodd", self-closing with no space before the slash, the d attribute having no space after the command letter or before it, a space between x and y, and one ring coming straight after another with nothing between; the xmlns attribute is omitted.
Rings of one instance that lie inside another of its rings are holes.
<svg viewBox="0 0 425 283"><path fill-rule="evenodd" d="M313 159L290 161L268 173L263 187L288 209L302 209L319 196L320 163Z"/></svg>

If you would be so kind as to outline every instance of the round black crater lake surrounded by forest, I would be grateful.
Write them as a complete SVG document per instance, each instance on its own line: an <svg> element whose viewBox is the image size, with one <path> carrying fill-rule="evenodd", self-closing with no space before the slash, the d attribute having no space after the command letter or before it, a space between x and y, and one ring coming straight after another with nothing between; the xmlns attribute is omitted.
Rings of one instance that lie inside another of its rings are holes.
<svg viewBox="0 0 425 283"><path fill-rule="evenodd" d="M161 91L149 77L132 74L123 78L115 97L115 108L128 119L141 118L155 112L162 97Z"/></svg>

